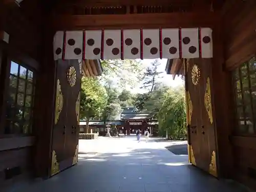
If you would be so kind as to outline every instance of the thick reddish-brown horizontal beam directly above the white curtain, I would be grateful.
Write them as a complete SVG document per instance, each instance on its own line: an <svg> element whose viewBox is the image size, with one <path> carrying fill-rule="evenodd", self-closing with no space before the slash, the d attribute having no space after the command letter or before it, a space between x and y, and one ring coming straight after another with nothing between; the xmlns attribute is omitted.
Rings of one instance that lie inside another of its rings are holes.
<svg viewBox="0 0 256 192"><path fill-rule="evenodd" d="M219 14L198 11L124 15L55 15L52 21L55 30L212 27L218 23Z"/></svg>

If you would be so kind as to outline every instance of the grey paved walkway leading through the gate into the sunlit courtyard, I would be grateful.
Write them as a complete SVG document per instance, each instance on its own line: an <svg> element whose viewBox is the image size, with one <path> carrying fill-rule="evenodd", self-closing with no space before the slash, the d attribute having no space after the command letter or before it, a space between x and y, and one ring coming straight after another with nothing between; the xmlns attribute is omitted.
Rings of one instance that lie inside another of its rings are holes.
<svg viewBox="0 0 256 192"><path fill-rule="evenodd" d="M242 192L174 155L166 142L138 143L135 137L79 141L76 166L36 183L26 192Z"/></svg>

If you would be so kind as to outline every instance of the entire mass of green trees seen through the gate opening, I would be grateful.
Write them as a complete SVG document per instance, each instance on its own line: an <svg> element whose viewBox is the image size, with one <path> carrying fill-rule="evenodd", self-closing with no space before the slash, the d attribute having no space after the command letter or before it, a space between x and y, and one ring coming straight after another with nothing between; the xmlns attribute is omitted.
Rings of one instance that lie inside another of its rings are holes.
<svg viewBox="0 0 256 192"><path fill-rule="evenodd" d="M103 60L102 76L82 78L81 119L96 118L106 122L118 118L122 106L136 106L158 120L161 136L165 136L167 130L169 139L186 138L184 88L173 89L160 83L159 65L155 60L142 74L139 61ZM131 88L141 82L147 92L133 95Z"/></svg>

